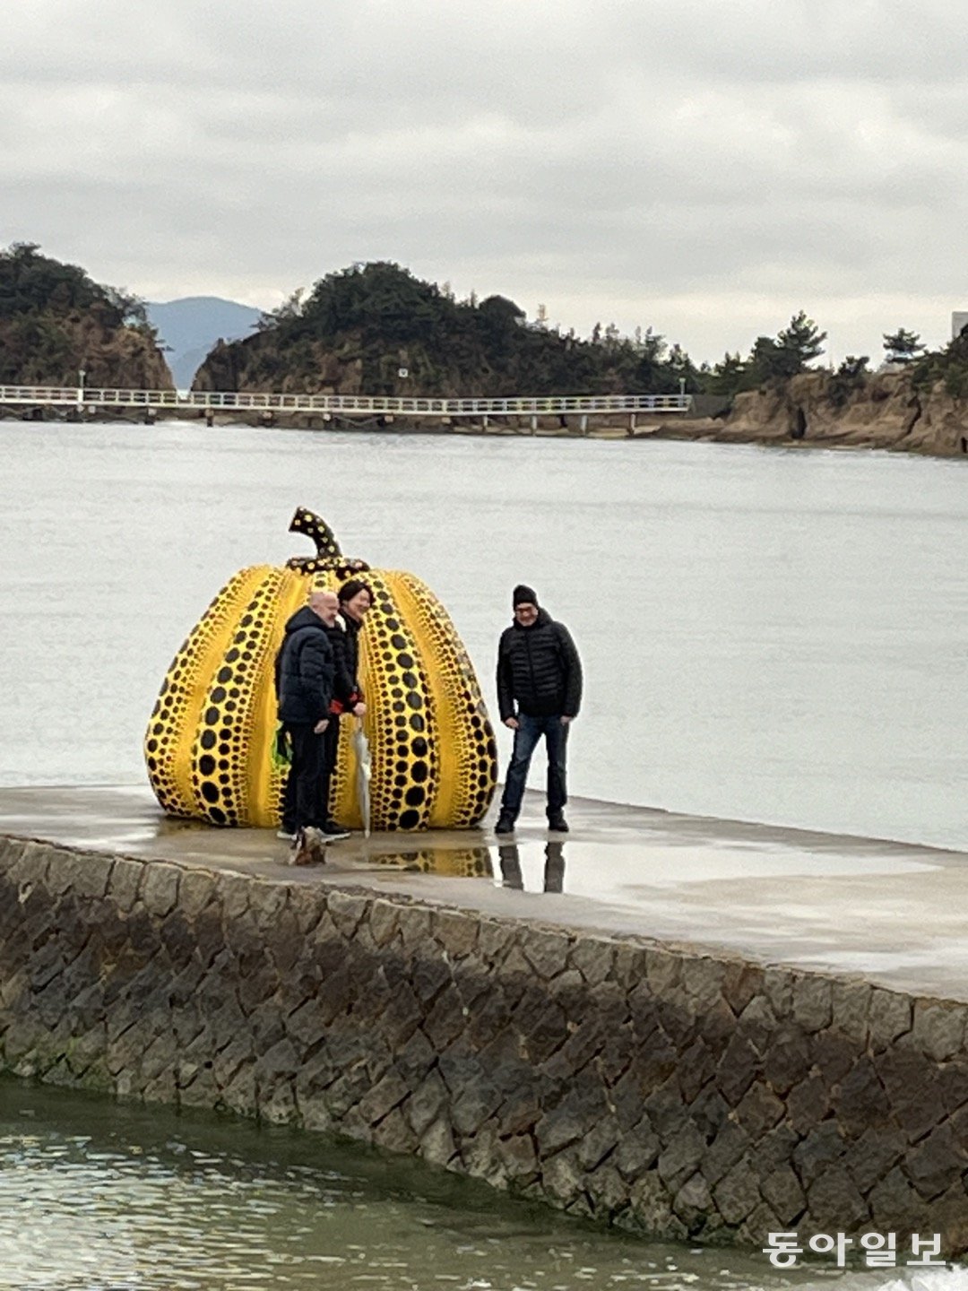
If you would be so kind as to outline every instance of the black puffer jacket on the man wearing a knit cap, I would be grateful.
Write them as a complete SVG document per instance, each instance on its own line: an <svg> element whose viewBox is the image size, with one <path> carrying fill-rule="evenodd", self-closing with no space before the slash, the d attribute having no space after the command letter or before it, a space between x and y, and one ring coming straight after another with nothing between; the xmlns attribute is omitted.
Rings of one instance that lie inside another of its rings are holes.
<svg viewBox="0 0 968 1291"><path fill-rule="evenodd" d="M497 649L497 700L501 720L518 710L528 717L577 717L582 702L582 665L570 633L546 609L530 627L514 622Z"/></svg>

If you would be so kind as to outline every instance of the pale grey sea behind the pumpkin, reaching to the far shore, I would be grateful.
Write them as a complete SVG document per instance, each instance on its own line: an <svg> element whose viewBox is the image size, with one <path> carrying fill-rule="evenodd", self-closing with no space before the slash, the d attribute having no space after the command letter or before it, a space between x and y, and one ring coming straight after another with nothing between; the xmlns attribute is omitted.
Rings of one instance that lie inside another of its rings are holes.
<svg viewBox="0 0 968 1291"><path fill-rule="evenodd" d="M537 587L587 673L573 793L968 847L964 462L170 422L0 448L0 784L141 780L176 647L236 568L310 550L305 503L435 587L492 701Z"/></svg>

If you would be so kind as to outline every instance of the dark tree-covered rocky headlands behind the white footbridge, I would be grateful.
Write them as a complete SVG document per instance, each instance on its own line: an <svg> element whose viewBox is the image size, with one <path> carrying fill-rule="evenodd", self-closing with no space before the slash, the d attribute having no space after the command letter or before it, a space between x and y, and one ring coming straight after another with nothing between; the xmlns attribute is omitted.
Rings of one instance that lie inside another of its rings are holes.
<svg viewBox="0 0 968 1291"><path fill-rule="evenodd" d="M596 324L580 337L549 325L543 310L529 320L507 297L457 300L447 284L373 262L327 274L262 314L250 336L217 341L194 389L427 398L687 392L712 416L666 418L639 432L968 452L968 337L927 351L898 328L884 334L875 363L849 356L838 368L818 367L825 341L799 311L745 356L697 364L650 327L622 336L614 324ZM94 283L35 244L0 252L0 383L75 385L81 371L88 386L173 386L137 296Z"/></svg>

